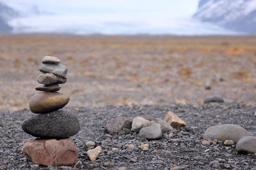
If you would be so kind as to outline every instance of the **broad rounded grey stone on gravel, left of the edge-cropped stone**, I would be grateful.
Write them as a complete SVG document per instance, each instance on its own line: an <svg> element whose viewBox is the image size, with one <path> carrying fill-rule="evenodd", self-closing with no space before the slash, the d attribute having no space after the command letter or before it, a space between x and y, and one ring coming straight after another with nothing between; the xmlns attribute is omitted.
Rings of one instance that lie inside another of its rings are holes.
<svg viewBox="0 0 256 170"><path fill-rule="evenodd" d="M237 143L244 136L253 136L251 132L246 131L243 127L234 124L215 125L209 127L204 133L204 139L217 139L225 142L232 140Z"/></svg>

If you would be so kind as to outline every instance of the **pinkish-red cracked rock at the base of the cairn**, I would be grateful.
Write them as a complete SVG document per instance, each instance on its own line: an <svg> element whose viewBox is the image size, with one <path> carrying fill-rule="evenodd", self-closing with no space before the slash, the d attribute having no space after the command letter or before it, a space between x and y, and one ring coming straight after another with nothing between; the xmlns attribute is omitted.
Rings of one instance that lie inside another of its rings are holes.
<svg viewBox="0 0 256 170"><path fill-rule="evenodd" d="M70 138L33 139L22 147L25 157L43 166L69 166L76 164L79 150Z"/></svg>

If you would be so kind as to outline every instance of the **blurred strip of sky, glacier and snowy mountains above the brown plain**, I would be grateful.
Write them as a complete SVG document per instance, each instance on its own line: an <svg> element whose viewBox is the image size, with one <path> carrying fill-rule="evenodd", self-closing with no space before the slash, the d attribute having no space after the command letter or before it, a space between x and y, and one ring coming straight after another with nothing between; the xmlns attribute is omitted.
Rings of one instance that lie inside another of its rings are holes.
<svg viewBox="0 0 256 170"><path fill-rule="evenodd" d="M255 0L1 0L0 31L70 34L253 34Z"/></svg>

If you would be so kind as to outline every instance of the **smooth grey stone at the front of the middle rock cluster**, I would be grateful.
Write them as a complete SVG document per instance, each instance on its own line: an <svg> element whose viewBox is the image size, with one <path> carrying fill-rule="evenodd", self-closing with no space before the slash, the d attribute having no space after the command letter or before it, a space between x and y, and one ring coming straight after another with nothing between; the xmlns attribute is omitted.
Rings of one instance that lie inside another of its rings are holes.
<svg viewBox="0 0 256 170"><path fill-rule="evenodd" d="M154 123L148 127L143 127L138 136L145 139L159 139L162 136L161 125Z"/></svg>

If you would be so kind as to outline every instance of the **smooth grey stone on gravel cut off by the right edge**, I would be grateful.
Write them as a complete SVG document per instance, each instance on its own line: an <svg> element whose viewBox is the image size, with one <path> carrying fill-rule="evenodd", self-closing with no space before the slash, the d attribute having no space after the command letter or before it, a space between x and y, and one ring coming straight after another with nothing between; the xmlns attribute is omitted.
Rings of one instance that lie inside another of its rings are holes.
<svg viewBox="0 0 256 170"><path fill-rule="evenodd" d="M256 137L245 136L239 139L236 150L238 153L256 153Z"/></svg>

